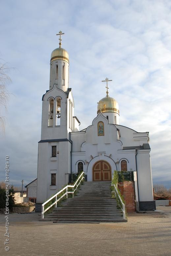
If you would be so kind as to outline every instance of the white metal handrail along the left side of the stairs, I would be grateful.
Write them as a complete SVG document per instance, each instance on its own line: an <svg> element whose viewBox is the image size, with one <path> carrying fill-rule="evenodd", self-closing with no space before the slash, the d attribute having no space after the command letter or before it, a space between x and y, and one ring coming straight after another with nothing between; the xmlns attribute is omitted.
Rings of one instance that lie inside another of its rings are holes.
<svg viewBox="0 0 171 256"><path fill-rule="evenodd" d="M82 178L81 178L81 176L82 176ZM52 196L50 199L48 199L47 201L45 201L43 204L42 204L42 219L44 219L44 213L48 210L48 209L50 209L54 204L55 204L55 206L57 207L57 202L59 201L59 200L61 200L61 198L63 198L64 196L66 196L67 195L67 198L68 198L68 194L72 194L72 197L73 197L73 195L74 195L74 192L75 192L75 190L77 191L77 187L80 185L80 183L81 183L81 181L84 179L84 172L82 172L80 175L79 175L79 177L78 177L78 179L75 181L75 183L74 183L74 185L67 185L67 186L65 186L63 189L61 189L58 193L56 193L54 196ZM79 182L78 182L79 181ZM78 184L77 184L77 182L78 182ZM73 189L73 191L68 191L68 188L74 188L76 186L76 188L75 189ZM60 198L58 198L57 199L57 196L62 192L62 191L64 191L64 190L67 190ZM46 209L44 209L44 205L46 204L46 203L48 203L49 201L51 201L53 198L55 198L55 201L49 206L49 207L47 207Z"/></svg>

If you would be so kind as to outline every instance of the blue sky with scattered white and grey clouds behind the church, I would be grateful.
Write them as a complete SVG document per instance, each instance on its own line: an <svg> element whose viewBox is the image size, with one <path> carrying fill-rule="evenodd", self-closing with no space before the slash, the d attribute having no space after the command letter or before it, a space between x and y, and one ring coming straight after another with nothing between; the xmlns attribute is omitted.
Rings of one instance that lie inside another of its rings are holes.
<svg viewBox="0 0 171 256"><path fill-rule="evenodd" d="M74 115L80 130L109 95L119 103L120 124L150 132L154 184L171 187L171 2L167 0L1 1L0 59L8 62L12 93L5 136L0 134L0 181L5 156L15 186L37 177L42 95L49 89L56 33L65 32Z"/></svg>

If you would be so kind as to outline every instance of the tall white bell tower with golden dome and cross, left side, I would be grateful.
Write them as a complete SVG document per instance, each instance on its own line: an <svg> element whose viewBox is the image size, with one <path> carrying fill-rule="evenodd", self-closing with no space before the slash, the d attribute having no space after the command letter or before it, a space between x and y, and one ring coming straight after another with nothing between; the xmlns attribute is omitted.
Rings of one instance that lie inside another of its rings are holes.
<svg viewBox="0 0 171 256"><path fill-rule="evenodd" d="M53 50L50 58L49 90L42 97L42 130L38 146L38 181L36 211L52 194L71 181L70 132L79 131L74 117L74 101L69 88L69 55L61 48Z"/></svg>

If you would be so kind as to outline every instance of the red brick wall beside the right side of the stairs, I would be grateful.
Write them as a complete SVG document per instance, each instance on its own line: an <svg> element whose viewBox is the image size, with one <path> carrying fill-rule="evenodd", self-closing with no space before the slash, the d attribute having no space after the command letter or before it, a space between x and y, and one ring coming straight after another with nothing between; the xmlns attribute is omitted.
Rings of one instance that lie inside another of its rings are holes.
<svg viewBox="0 0 171 256"><path fill-rule="evenodd" d="M118 183L118 189L124 196L127 212L135 212L135 190L133 181L124 181Z"/></svg>

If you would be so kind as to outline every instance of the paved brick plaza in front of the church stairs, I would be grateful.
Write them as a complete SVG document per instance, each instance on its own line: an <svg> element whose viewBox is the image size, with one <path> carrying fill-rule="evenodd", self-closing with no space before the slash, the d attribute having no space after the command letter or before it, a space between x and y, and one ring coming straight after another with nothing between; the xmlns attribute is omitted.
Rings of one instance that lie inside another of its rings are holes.
<svg viewBox="0 0 171 256"><path fill-rule="evenodd" d="M171 256L171 207L133 213L127 223L53 223L39 213L10 214L9 251L5 217L0 215L0 255L13 256Z"/></svg>

